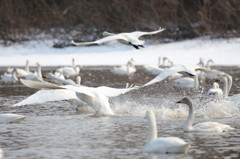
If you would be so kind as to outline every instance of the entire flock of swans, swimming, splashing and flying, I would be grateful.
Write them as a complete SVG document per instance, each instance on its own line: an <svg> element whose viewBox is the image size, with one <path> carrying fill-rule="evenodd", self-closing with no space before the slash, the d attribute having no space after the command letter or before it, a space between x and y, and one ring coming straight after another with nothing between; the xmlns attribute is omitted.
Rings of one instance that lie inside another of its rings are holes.
<svg viewBox="0 0 240 159"><path fill-rule="evenodd" d="M117 40L120 43L132 45L139 49L143 47L144 41L138 38L143 35L153 35L162 32L165 29L152 32L135 31L132 33L114 34L104 32L104 38L94 42L76 43L77 46L102 44L108 41ZM228 97L232 87L232 77L222 71L212 70L209 64L213 63L209 60L205 65L204 60L200 59L198 65L175 65L170 59L159 57L157 65L144 65L143 68L149 74L156 77L149 82L141 85L126 85L125 88L113 88L107 86L88 87L81 84L79 72L81 67L76 66L74 59L71 67L61 67L53 73L42 75L40 63L36 63L37 71L31 72L29 69L29 61L26 61L25 69L9 69L1 75L1 81L15 83L20 79L20 82L26 87L37 89L38 91L26 99L16 103L13 107L41 104L50 101L69 101L76 109L82 113L92 113L94 116L114 116L116 113L111 108L109 98L125 94L132 90L143 89L165 79L171 79L176 87L185 87L199 89L199 83L206 79L220 79L224 83L224 89L221 90L219 84L214 82L213 88L209 89L208 95L215 96L228 100L239 100L239 94ZM110 70L111 73L117 75L129 76L137 71L135 61L130 59L126 65L114 67ZM185 77L188 75L188 77ZM190 76L190 77L189 77ZM75 77L77 82L69 80L70 77ZM48 80L45 80L48 79ZM225 132L233 130L230 125L217 122L204 122L193 125L194 111L191 99L183 98L177 103L186 104L189 107L187 120L183 124L184 132ZM17 114L0 114L0 122L14 122L23 120L25 116ZM148 110L146 118L149 123L148 139L144 147L146 153L186 153L190 148L190 144L178 137L160 137L157 138L157 127L154 112ZM0 156L2 152L0 149Z"/></svg>

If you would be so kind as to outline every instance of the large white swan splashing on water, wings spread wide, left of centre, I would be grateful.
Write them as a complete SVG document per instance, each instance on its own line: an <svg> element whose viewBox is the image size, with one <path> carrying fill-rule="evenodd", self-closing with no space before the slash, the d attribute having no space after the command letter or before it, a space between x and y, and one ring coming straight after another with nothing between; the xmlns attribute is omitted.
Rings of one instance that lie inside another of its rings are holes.
<svg viewBox="0 0 240 159"><path fill-rule="evenodd" d="M89 106L92 107L92 109L95 111L96 115L115 115L113 110L110 107L110 103L108 101L109 97L116 97L120 94L124 94L130 90L136 89L137 87L131 87L131 88L111 88L106 86L100 86L100 87L87 87L82 85L64 85L64 86L58 86L49 82L39 82L39 81L32 81L32 80L20 80L24 85L27 85L28 87L32 88L40 88L40 89L50 89L48 91L51 91L50 93L54 94L56 93L56 89L63 89L62 91L70 91L67 93L62 93L61 95L57 94L55 96L51 94L46 94L47 90L40 90L41 92L45 91L44 93L41 93L42 98L39 98L39 94L35 93L32 96L28 97L27 99L14 104L14 106L21 106L30 104L32 102L39 102L39 100L42 102L46 101L58 101L58 100L70 100L70 99L76 99L76 96L80 98L81 101L85 102ZM75 92L75 93L74 93ZM58 93L58 92L57 92ZM71 94L71 95L70 95ZM46 97L43 97L46 96Z"/></svg>

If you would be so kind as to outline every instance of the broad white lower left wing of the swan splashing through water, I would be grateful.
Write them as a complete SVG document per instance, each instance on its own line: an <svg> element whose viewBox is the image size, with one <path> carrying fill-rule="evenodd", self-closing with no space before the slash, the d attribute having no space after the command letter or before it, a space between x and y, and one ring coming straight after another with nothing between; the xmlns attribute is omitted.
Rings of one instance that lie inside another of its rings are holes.
<svg viewBox="0 0 240 159"><path fill-rule="evenodd" d="M78 97L76 96L75 92L67 89L39 90L21 102L14 104L13 106L16 107L30 104L41 104L70 99L78 99Z"/></svg>

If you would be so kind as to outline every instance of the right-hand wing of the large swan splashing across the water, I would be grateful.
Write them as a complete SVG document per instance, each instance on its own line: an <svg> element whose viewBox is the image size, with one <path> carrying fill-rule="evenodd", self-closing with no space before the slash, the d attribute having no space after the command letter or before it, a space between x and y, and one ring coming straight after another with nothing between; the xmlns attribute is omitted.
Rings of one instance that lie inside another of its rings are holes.
<svg viewBox="0 0 240 159"><path fill-rule="evenodd" d="M128 88L111 88L111 87L106 87L106 86L100 86L97 87L97 91L101 92L102 94L106 95L107 97L116 97L119 96L120 94L127 93L133 89L138 89L138 86L130 86Z"/></svg>

